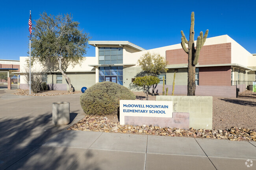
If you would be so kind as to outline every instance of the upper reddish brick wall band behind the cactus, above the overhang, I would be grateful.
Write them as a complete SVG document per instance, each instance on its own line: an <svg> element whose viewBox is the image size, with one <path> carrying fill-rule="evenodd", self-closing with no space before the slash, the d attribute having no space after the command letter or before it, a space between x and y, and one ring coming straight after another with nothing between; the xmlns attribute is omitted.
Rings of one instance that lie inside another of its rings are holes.
<svg viewBox="0 0 256 170"><path fill-rule="evenodd" d="M167 50L166 61L168 64L187 64L187 53L182 48ZM203 46L198 63L200 65L230 64L231 43Z"/></svg>

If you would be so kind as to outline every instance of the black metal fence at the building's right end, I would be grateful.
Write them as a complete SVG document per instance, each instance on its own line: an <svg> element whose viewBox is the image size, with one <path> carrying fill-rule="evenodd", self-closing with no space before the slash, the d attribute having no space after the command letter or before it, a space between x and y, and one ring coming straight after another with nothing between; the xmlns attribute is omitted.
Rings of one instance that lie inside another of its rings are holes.
<svg viewBox="0 0 256 170"><path fill-rule="evenodd" d="M253 91L254 81L231 81L231 86L236 86L236 97L256 99L256 92Z"/></svg>

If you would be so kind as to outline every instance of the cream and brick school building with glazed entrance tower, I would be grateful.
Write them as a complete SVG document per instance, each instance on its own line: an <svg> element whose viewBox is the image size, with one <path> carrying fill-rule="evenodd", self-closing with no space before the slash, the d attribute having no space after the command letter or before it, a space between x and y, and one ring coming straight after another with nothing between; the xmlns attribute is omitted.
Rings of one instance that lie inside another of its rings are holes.
<svg viewBox="0 0 256 170"><path fill-rule="evenodd" d="M148 50L129 41L89 41L88 44L95 47L95 57L86 57L81 66L73 68L69 63L64 66L75 90L89 88L97 82L111 81L137 91L132 84L142 71L137 60L150 52L165 57L168 68L167 73L159 75L161 81L155 92L162 93L163 77L165 87L172 91L176 72L174 95L187 95L187 53L181 44ZM20 88L23 89L28 88L22 76L26 59L28 57L20 57ZM35 63L32 70L42 68ZM54 90L69 89L58 69L46 70L45 77L48 85L54 85ZM237 87L232 86L231 81L244 80L256 81L256 54L249 53L228 35L207 38L196 66L196 95L236 97Z"/></svg>

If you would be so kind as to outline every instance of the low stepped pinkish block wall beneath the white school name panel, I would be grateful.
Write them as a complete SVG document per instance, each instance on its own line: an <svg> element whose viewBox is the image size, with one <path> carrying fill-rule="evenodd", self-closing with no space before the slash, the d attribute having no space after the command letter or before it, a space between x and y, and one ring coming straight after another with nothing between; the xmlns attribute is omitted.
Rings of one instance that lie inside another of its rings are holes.
<svg viewBox="0 0 256 170"><path fill-rule="evenodd" d="M124 124L133 126L142 126L143 124L152 126L160 126L161 128L181 128L189 129L189 113L173 112L172 118L167 117L141 117L141 116L125 116Z"/></svg>

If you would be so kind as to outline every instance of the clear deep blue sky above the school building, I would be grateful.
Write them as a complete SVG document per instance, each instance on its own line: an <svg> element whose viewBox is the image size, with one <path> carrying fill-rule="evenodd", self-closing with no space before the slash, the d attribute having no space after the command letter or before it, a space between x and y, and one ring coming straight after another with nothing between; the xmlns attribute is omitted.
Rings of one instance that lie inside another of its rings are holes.
<svg viewBox="0 0 256 170"><path fill-rule="evenodd" d="M178 44L180 31L189 37L190 15L195 12L195 38L229 35L250 53L256 53L255 0L44 0L2 1L0 59L28 56L29 11L32 23L44 11L71 13L91 40L130 41L145 49ZM95 56L90 46L85 56Z"/></svg>

